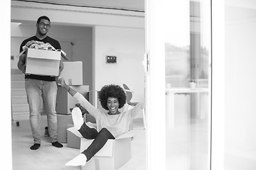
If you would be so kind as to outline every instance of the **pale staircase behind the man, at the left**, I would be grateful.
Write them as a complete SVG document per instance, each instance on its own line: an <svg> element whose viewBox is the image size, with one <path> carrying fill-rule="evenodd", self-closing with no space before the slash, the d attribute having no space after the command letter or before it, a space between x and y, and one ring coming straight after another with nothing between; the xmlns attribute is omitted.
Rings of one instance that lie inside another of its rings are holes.
<svg viewBox="0 0 256 170"><path fill-rule="evenodd" d="M11 69L11 118L16 122L29 120L25 79L18 69Z"/></svg>

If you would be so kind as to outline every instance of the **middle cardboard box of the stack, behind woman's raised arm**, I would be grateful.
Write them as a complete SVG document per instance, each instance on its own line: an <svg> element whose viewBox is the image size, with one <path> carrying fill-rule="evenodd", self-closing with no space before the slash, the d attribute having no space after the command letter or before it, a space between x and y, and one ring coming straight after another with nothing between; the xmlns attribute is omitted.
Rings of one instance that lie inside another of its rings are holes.
<svg viewBox="0 0 256 170"><path fill-rule="evenodd" d="M71 89L78 91L82 96L84 96L89 101L89 86L82 85L82 86L70 86ZM75 104L78 101L73 98L68 91L64 89L62 86L58 86L57 91L57 106L56 112L58 114L71 114L70 108L75 108Z"/></svg>

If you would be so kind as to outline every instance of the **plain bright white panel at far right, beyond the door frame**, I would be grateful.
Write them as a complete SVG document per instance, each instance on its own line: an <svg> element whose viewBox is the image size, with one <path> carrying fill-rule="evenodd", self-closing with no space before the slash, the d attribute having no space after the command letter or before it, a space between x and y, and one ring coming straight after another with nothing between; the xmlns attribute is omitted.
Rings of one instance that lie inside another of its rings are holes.
<svg viewBox="0 0 256 170"><path fill-rule="evenodd" d="M256 169L256 11L226 6L225 15L225 165Z"/></svg>

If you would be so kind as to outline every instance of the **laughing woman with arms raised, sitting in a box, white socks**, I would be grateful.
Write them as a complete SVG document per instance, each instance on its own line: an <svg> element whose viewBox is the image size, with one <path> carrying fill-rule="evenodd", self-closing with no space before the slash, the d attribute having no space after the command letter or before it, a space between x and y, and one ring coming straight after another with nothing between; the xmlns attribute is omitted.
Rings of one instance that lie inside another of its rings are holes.
<svg viewBox="0 0 256 170"><path fill-rule="evenodd" d="M129 131L129 124L138 113L141 113L144 105L138 103L134 108L120 113L118 108L122 108L126 103L126 95L122 87L111 84L103 86L99 92L99 99L102 108L108 112L104 113L95 106L92 106L82 94L74 91L63 78L59 79L59 83L68 93L73 96L90 113L96 120L97 130L89 128L82 118L82 113L79 108L73 108L72 118L74 127L80 132L82 137L88 140L94 139L92 144L85 149L66 166L84 166L107 142L108 139L114 140L115 137Z"/></svg>

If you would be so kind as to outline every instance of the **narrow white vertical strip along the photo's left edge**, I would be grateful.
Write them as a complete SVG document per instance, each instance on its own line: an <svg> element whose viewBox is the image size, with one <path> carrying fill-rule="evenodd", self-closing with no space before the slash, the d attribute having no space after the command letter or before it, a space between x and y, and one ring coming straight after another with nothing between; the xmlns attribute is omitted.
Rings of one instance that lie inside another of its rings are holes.
<svg viewBox="0 0 256 170"><path fill-rule="evenodd" d="M5 167L4 169L6 170L11 170L12 169L12 142L11 142L11 79L10 79L10 74L11 74L11 70L9 69L10 67L10 55L11 52L9 50L9 45L11 43L10 41L10 18L11 15L9 13L10 11L10 4L11 1L2 1L1 2L1 6L0 6L0 13L1 16L4 16L1 19L1 32L0 32L0 36L1 36L1 54L2 54L2 58L1 58L1 73L3 73L3 78L5 83L2 83L0 85L0 89L4 89L1 92L1 108L2 108L2 112L4 113L3 115L1 115L1 126L4 128L1 128L1 135L4 135L4 139L5 140L1 140L0 142L0 146L2 146L1 150L4 154L4 161L1 161L1 166ZM4 102L6 101L6 102Z"/></svg>

